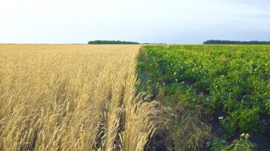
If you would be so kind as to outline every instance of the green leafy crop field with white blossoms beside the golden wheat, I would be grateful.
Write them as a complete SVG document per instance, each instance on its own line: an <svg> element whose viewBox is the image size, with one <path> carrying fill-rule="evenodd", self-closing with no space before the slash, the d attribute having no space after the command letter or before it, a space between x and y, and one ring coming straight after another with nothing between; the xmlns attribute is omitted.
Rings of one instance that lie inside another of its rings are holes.
<svg viewBox="0 0 270 151"><path fill-rule="evenodd" d="M269 149L269 45L151 45L140 54L141 91L175 115L163 144Z"/></svg>

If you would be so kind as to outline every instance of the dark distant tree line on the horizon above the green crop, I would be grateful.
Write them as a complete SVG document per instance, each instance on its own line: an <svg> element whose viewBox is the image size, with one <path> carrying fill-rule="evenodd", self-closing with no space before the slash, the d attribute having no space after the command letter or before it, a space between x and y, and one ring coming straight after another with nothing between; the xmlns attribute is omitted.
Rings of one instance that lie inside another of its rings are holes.
<svg viewBox="0 0 270 151"><path fill-rule="evenodd" d="M270 45L270 41L232 41L232 40L207 40L203 44L230 44L230 45L244 45L244 44L253 44L253 45Z"/></svg>

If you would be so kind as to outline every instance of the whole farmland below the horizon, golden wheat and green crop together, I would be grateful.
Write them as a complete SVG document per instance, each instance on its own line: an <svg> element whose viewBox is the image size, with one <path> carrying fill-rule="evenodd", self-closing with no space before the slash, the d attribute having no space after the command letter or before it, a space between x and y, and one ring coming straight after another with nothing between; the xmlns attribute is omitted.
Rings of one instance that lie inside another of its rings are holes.
<svg viewBox="0 0 270 151"><path fill-rule="evenodd" d="M0 45L0 150L270 150L269 45Z"/></svg>

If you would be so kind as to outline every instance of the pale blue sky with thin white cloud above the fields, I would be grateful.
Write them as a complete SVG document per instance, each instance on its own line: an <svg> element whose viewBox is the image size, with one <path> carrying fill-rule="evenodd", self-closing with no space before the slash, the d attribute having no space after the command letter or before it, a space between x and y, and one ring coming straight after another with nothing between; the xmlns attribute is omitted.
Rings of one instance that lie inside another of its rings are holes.
<svg viewBox="0 0 270 151"><path fill-rule="evenodd" d="M270 40L269 0L0 0L0 43Z"/></svg>

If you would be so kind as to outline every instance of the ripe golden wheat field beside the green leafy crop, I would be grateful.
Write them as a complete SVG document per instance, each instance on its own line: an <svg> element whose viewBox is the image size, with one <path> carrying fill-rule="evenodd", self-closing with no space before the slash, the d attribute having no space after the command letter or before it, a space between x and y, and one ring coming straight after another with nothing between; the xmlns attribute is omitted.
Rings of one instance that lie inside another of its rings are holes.
<svg viewBox="0 0 270 151"><path fill-rule="evenodd" d="M144 150L156 101L140 45L0 45L0 150Z"/></svg>

